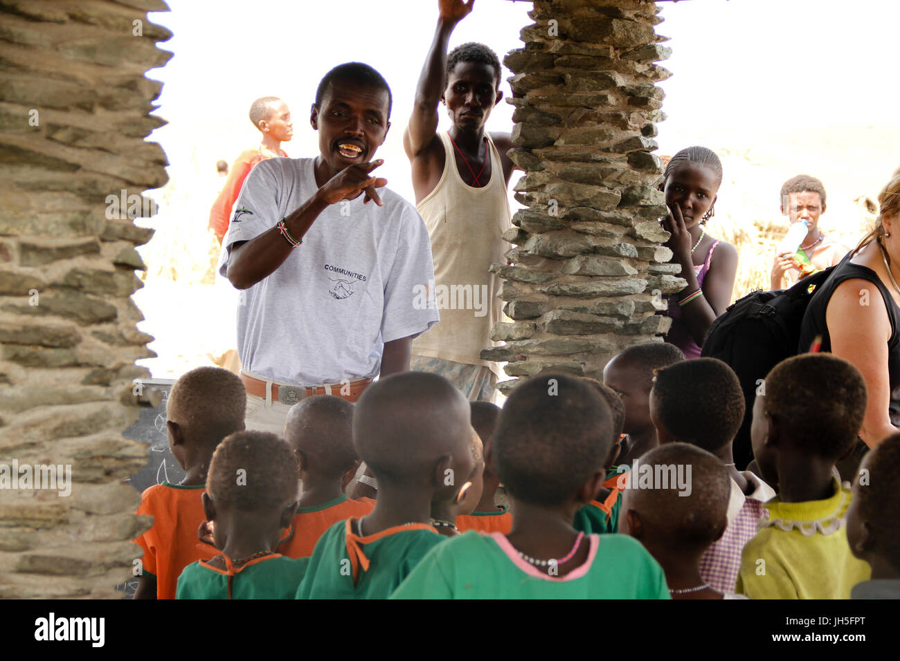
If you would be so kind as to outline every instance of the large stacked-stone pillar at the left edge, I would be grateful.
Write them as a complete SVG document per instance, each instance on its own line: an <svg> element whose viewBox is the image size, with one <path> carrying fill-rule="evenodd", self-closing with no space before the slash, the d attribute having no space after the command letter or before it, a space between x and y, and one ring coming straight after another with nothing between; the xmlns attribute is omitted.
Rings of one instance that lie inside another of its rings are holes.
<svg viewBox="0 0 900 661"><path fill-rule="evenodd" d="M130 300L151 232L130 218L166 183L162 148L144 141L165 123L150 114L161 84L144 73L171 57L147 20L167 9L0 4L0 597L112 596L148 527L122 482L147 449L121 432L154 399L132 384L152 354ZM9 488L14 462L70 464L71 494L22 474Z"/></svg>

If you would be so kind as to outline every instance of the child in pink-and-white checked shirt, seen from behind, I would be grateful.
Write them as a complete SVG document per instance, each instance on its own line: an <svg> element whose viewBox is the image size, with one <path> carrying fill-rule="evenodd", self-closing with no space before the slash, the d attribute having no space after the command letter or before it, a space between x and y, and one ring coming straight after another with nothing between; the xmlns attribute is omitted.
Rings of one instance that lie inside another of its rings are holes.
<svg viewBox="0 0 900 661"><path fill-rule="evenodd" d="M732 480L728 527L700 558L700 576L724 594L734 592L743 547L767 516L763 504L775 496L760 478L734 466L732 441L743 422L743 406L740 381L716 358L677 362L656 371L650 415L660 444L686 442L712 452Z"/></svg>

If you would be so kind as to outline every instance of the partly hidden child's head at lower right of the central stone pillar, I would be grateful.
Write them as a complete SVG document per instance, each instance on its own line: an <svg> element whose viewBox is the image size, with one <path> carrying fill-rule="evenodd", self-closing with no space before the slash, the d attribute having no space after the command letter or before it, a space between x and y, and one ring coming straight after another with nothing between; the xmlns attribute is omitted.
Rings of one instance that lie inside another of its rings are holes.
<svg viewBox="0 0 900 661"><path fill-rule="evenodd" d="M615 390L625 406L624 433L641 433L653 427L650 420L650 390L653 371L684 361L674 344L647 342L618 353L603 370L603 382Z"/></svg>

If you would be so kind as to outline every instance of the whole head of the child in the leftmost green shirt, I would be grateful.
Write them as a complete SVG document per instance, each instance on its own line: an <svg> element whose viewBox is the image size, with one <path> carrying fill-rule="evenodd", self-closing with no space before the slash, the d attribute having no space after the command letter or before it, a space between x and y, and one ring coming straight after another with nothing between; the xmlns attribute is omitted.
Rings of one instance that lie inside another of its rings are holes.
<svg viewBox="0 0 900 661"><path fill-rule="evenodd" d="M225 549L229 540L259 540L275 549L293 519L298 490L297 457L284 439L232 433L212 455L202 496L206 518L215 524L216 548Z"/></svg>

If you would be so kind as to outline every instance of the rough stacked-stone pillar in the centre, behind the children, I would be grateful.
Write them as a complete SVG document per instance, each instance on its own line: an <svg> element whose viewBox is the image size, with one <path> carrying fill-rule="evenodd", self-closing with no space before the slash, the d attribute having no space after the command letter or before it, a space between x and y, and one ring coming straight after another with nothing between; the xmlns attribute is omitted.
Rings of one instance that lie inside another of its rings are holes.
<svg viewBox="0 0 900 661"><path fill-rule="evenodd" d="M654 62L671 52L657 12L644 0L535 0L525 48L504 60L515 74L509 156L527 172L516 198L528 208L505 235L512 264L492 269L514 321L494 327L505 344L482 358L509 361L510 376L599 376L613 354L668 330L655 312L686 286L657 221L654 84L670 73Z"/></svg>

